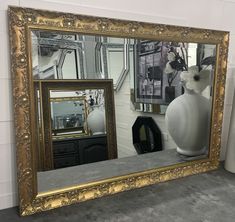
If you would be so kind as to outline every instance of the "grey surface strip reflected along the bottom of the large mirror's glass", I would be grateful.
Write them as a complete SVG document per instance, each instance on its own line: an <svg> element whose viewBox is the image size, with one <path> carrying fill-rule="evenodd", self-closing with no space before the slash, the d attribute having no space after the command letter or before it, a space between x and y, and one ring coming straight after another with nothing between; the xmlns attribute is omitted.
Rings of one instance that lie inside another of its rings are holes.
<svg viewBox="0 0 235 222"><path fill-rule="evenodd" d="M179 155L176 152L176 149L172 149L39 172L37 174L38 191L45 192L69 186L76 186L77 184L99 181L106 178L202 158L206 158L206 155L185 157Z"/></svg>

